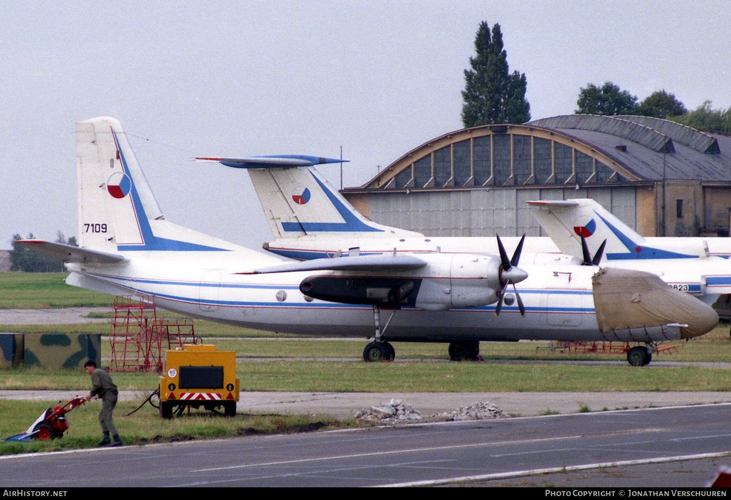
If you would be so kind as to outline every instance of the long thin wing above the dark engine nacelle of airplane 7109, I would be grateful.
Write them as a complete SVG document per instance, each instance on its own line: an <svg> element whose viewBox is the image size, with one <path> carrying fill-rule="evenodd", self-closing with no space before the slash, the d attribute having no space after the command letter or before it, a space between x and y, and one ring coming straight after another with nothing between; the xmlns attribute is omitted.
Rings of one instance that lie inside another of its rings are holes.
<svg viewBox="0 0 731 500"><path fill-rule="evenodd" d="M290 273L309 270L371 270L396 271L423 268L427 262L413 255L357 255L353 257L332 257L303 262L286 262L268 268L254 269L239 274Z"/></svg>

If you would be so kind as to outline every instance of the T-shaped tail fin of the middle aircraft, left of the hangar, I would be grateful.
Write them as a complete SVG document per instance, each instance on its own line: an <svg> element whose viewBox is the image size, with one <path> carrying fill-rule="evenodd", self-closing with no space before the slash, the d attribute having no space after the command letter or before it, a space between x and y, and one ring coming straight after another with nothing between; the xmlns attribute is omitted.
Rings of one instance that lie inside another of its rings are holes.
<svg viewBox="0 0 731 500"><path fill-rule="evenodd" d="M199 158L249 171L270 229L276 238L311 235L357 237L423 236L377 224L363 216L315 168L341 162L317 156Z"/></svg>

